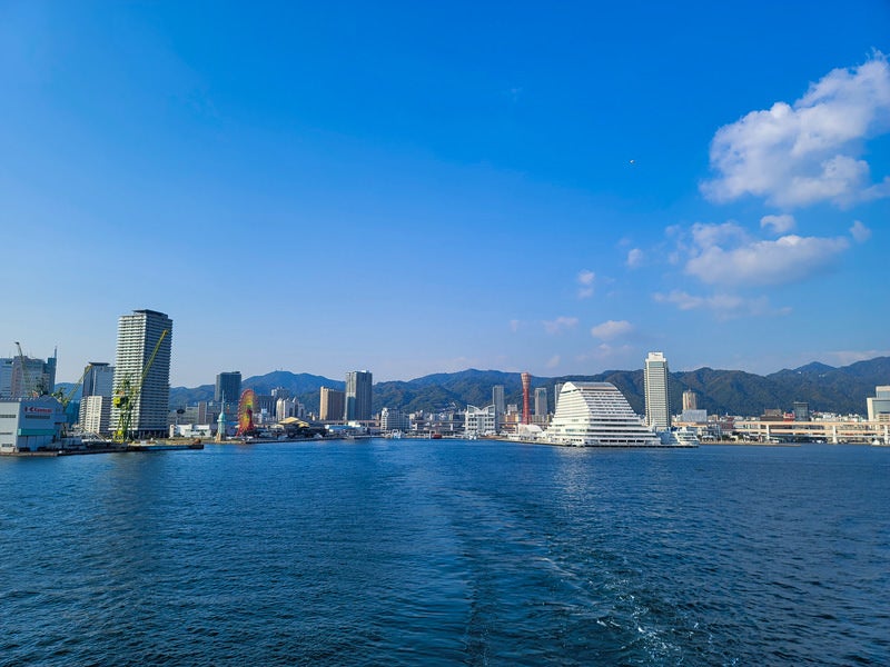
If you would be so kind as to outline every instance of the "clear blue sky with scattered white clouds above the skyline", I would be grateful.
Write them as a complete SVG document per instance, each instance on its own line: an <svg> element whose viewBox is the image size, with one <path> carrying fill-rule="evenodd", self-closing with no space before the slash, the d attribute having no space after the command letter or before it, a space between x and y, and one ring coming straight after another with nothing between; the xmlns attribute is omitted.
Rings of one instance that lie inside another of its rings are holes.
<svg viewBox="0 0 890 667"><path fill-rule="evenodd" d="M481 6L482 4L482 6ZM0 0L0 356L771 372L890 354L890 4Z"/></svg>

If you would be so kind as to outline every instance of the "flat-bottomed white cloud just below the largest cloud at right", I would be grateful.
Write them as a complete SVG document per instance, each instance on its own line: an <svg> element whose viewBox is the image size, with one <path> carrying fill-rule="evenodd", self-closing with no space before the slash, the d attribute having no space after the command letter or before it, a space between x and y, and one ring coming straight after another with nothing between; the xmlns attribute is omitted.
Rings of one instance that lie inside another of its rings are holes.
<svg viewBox="0 0 890 667"><path fill-rule="evenodd" d="M695 225L685 272L709 285L771 286L825 270L850 247L847 238L788 235L752 240L734 223Z"/></svg>

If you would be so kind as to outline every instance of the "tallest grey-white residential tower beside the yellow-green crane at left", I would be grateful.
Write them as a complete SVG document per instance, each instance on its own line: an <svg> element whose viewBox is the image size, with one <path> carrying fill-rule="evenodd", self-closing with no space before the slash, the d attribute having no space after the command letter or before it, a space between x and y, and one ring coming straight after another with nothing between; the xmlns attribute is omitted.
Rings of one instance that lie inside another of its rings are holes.
<svg viewBox="0 0 890 667"><path fill-rule="evenodd" d="M146 372L155 347L158 354ZM170 402L170 351L174 321L156 310L134 310L118 320L118 350L115 361L115 391L123 380L138 387L142 374L145 382L132 408L130 429L135 437L162 436L168 432L167 414ZM119 411L111 409L111 429L118 426Z"/></svg>

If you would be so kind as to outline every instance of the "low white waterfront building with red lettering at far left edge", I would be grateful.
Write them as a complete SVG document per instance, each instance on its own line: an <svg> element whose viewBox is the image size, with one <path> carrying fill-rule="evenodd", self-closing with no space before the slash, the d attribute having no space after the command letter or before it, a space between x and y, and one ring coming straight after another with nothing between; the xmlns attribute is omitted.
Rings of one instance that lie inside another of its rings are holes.
<svg viewBox="0 0 890 667"><path fill-rule="evenodd" d="M0 452L59 448L65 422L62 404L52 396L0 400Z"/></svg>

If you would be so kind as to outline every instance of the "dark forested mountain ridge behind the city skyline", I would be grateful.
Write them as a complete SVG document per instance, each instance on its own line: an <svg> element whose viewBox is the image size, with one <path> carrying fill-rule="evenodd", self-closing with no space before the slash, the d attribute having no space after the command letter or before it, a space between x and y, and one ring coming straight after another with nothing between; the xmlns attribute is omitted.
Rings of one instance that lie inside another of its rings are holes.
<svg viewBox="0 0 890 667"><path fill-rule="evenodd" d="M645 411L643 371L607 370L592 376L533 377L532 387L546 387L550 409L553 410L553 388L570 380L612 382L627 398L637 412ZM297 396L310 411L318 411L319 389L344 389L343 380L324 376L276 370L244 380L243 388L258 394L269 394L284 387ZM507 404L522 407L522 381L518 372L467 369L458 372L434 374L413 380L394 380L374 385L373 410L400 408L407 411L465 408L467 405L486 406L492 402L492 387L504 386ZM804 401L810 410L822 412L866 414L866 398L874 396L874 387L890 385L890 357L877 357L850 366L834 368L812 362L794 369L759 376L742 370L696 370L672 372L670 377L671 411L682 409L685 389L693 389L700 409L709 414L762 415L768 408L784 411L794 401ZM70 385L69 385L70 387ZM170 389L170 406L181 407L199 400L212 400L214 386L192 389Z"/></svg>

